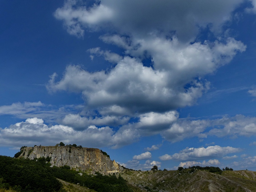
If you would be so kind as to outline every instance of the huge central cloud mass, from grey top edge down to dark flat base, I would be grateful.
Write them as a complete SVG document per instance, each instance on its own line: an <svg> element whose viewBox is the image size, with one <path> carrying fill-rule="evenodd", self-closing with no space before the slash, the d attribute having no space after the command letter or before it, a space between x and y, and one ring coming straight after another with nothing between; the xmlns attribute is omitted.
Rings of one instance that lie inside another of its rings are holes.
<svg viewBox="0 0 256 192"><path fill-rule="evenodd" d="M102 55L117 65L97 72L70 65L60 81L55 80L54 73L47 88L53 92L80 92L89 107L97 111L120 108L126 113L122 115L150 115L193 105L209 89L209 82L202 77L246 49L233 37L218 37L222 25L232 19L232 11L240 3L242 0L110 0L89 6L80 1L65 1L55 11L55 17L63 21L70 34L81 37L84 30L104 28L106 34L100 38L125 51L117 55L99 47L91 48L91 54ZM196 42L200 28L209 23L216 40ZM152 67L143 65L143 58L150 58Z"/></svg>

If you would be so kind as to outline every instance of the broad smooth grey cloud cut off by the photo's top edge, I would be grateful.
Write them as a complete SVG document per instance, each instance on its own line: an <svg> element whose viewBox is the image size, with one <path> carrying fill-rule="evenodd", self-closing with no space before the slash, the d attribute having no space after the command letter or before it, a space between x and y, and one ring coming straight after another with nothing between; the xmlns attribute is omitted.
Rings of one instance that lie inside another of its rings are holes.
<svg viewBox="0 0 256 192"><path fill-rule="evenodd" d="M199 28L212 23L213 32L232 19L232 11L243 0L227 1L113 1L102 0L90 7L80 1L65 1L55 11L55 17L63 20L71 35L82 36L82 28L99 30L114 28L120 33L145 36L159 29L164 35L176 31L179 38L191 40Z"/></svg>

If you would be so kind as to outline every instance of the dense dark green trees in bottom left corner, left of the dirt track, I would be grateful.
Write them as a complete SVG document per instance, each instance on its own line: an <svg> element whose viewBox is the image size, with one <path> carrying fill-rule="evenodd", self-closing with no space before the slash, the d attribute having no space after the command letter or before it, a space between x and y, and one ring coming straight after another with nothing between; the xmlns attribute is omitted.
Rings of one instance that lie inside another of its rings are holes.
<svg viewBox="0 0 256 192"><path fill-rule="evenodd" d="M12 187L18 192L63 191L62 184L47 171L49 166L50 164L45 163L45 158L35 161L0 156L2 188Z"/></svg>

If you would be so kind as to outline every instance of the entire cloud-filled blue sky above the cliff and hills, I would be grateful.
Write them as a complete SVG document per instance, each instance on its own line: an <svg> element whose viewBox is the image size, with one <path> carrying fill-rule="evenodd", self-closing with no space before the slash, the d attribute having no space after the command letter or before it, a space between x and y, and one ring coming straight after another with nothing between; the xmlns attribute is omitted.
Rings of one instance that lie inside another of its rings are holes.
<svg viewBox="0 0 256 192"><path fill-rule="evenodd" d="M255 170L256 1L1 1L0 154Z"/></svg>

